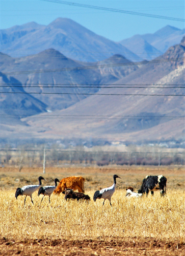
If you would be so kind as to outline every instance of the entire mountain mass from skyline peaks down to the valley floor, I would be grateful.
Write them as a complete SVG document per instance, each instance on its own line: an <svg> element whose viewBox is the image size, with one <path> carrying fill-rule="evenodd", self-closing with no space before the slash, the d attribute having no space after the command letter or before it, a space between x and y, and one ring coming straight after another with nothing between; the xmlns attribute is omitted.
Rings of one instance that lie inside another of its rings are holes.
<svg viewBox="0 0 185 256"><path fill-rule="evenodd" d="M71 57L57 49L57 33L66 35L59 45L70 49ZM62 18L48 26L30 23L1 31L7 51L0 53L1 138L182 140L184 96L176 95L184 94L185 37L163 53L182 35L167 26L129 38L125 47ZM83 50L80 56L83 47L99 51ZM112 52L104 54L105 49ZM27 50L31 55L24 56ZM151 60L139 61L139 51Z"/></svg>

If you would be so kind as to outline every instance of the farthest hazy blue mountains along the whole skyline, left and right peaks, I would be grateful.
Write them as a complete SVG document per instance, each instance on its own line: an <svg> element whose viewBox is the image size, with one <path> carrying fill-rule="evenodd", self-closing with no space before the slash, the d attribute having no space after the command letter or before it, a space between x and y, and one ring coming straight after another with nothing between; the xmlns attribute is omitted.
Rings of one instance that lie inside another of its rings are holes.
<svg viewBox="0 0 185 256"><path fill-rule="evenodd" d="M57 18L47 26L31 22L0 30L0 48L12 57L35 55L53 48L79 61L100 61L120 54L136 62L162 55L169 47L179 44L184 35L184 29L166 26L153 34L114 42L71 19Z"/></svg>

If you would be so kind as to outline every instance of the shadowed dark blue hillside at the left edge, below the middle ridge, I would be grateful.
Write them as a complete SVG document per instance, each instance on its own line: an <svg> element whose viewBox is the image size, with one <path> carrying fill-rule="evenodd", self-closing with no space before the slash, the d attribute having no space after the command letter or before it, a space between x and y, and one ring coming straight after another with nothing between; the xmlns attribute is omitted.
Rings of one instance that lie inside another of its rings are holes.
<svg viewBox="0 0 185 256"><path fill-rule="evenodd" d="M15 84L18 84L18 87ZM1 125L27 125L25 122L21 122L20 119L46 112L47 106L26 93L20 81L1 72L0 91L3 92L0 94Z"/></svg>

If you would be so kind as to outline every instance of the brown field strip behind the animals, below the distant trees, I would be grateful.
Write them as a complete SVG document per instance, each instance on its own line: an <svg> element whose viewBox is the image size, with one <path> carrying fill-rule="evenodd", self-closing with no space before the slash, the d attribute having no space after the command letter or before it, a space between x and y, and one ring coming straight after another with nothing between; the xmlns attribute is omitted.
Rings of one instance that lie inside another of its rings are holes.
<svg viewBox="0 0 185 256"><path fill-rule="evenodd" d="M52 185L54 179L69 176L83 176L86 179L85 188L99 189L112 184L114 174L122 177L117 188L124 189L133 186L136 190L140 188L142 180L146 175L161 175L167 177L167 189L185 189L184 166L105 166L105 167L47 167L46 174L43 174L41 167L24 167L18 172L18 167L0 168L0 190L21 187L23 185L37 184L38 177L44 176L47 182L43 185Z"/></svg>

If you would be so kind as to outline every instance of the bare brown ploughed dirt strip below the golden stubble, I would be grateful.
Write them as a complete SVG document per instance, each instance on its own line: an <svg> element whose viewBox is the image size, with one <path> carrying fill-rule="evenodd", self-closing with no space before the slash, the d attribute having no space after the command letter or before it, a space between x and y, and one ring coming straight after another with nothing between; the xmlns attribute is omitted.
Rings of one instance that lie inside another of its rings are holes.
<svg viewBox="0 0 185 256"><path fill-rule="evenodd" d="M0 255L185 255L184 241L154 238L108 240L0 239Z"/></svg>

